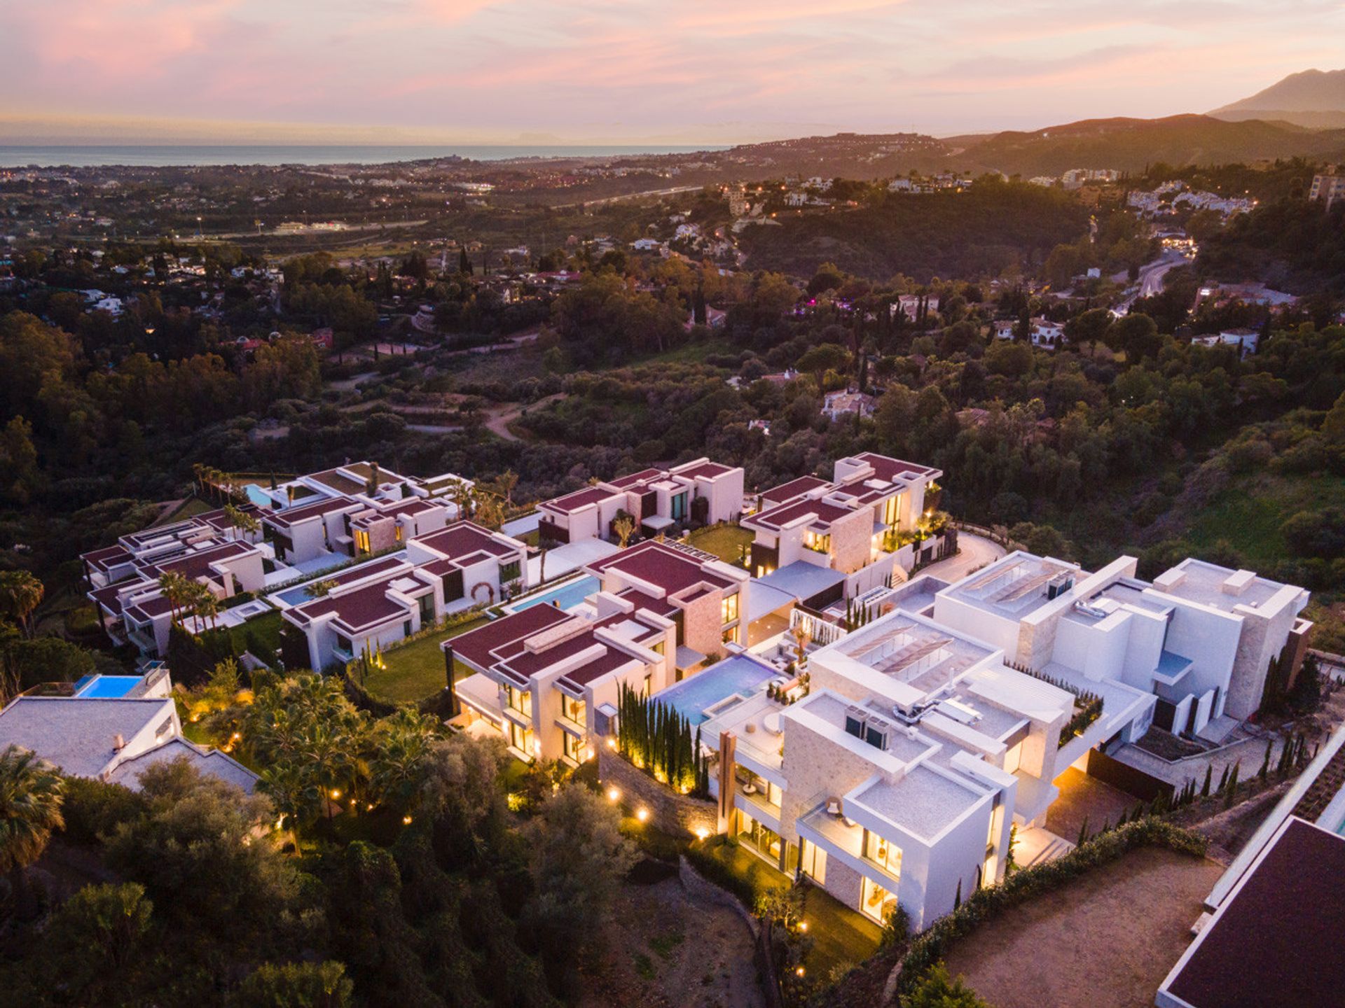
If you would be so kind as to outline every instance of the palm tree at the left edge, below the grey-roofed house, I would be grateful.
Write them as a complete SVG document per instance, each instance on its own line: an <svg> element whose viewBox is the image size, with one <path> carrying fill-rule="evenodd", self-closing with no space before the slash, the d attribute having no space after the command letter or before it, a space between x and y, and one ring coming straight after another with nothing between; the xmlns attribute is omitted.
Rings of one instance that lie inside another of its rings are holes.
<svg viewBox="0 0 1345 1008"><path fill-rule="evenodd" d="M24 868L42 856L51 832L66 824L63 789L56 769L36 754L17 746L0 753L0 871L9 876L20 921L36 917Z"/></svg>

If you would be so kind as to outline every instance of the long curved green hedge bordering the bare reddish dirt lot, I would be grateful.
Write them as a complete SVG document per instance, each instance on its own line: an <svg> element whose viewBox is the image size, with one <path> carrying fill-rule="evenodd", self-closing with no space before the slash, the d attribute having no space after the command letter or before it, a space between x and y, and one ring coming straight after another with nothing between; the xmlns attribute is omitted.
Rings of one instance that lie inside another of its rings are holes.
<svg viewBox="0 0 1345 1008"><path fill-rule="evenodd" d="M1205 839L1161 818L1141 818L1100 833L1063 857L1022 868L998 886L979 888L951 914L935 921L912 942L901 964L897 989L909 995L925 972L948 956L948 948L978 925L1029 899L1073 882L1093 868L1139 847L1166 847L1178 853L1202 856Z"/></svg>

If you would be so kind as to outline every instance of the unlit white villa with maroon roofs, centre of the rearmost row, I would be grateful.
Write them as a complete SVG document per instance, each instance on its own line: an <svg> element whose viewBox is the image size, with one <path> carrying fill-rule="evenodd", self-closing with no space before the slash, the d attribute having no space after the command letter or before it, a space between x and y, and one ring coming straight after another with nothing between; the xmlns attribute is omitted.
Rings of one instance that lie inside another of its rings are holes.
<svg viewBox="0 0 1345 1008"><path fill-rule="evenodd" d="M693 519L701 524L732 521L742 512L742 469L707 458L642 469L538 505L543 540L578 543L616 539L617 515L629 515L635 531L654 536Z"/></svg>

